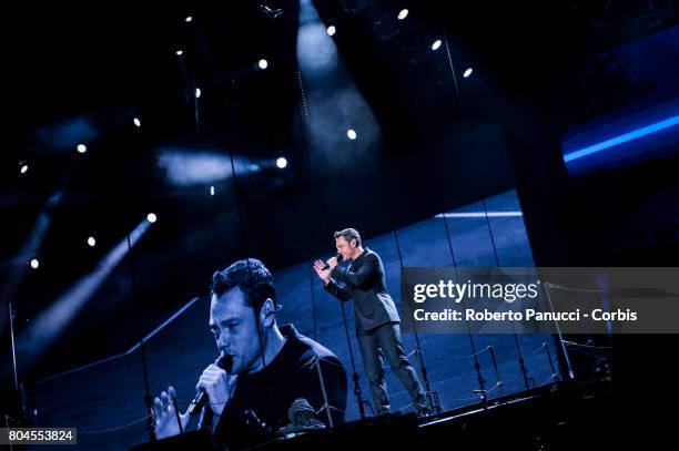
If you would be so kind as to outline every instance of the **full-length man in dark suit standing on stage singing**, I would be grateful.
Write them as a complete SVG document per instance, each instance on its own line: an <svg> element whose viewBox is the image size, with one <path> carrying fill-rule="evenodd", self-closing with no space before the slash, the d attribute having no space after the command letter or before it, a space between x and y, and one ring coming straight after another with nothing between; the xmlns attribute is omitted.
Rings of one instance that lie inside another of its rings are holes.
<svg viewBox="0 0 679 451"><path fill-rule="evenodd" d="M326 291L342 301L354 301L356 336L377 413L388 413L391 408L384 378L385 356L392 371L413 398L417 412L428 413L422 385L401 344L401 318L386 288L382 259L373 250L362 247L361 235L354 228L335 232L335 245L342 259L352 262L348 269L337 265L337 257L325 264L316 260L314 269ZM327 269L324 268L326 265Z"/></svg>

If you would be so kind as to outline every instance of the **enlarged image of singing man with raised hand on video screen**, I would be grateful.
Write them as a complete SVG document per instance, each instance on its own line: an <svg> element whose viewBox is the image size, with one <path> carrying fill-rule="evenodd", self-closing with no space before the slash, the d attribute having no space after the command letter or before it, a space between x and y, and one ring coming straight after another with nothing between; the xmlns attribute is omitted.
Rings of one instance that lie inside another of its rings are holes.
<svg viewBox="0 0 679 451"><path fill-rule="evenodd" d="M276 325L275 286L262 262L243 259L216 271L211 291L210 329L221 358L200 377L196 400L206 396L200 423L211 428L215 442L239 449L272 440L290 423L288 409L297 398L321 409L325 400L316 362L327 402L337 409L332 410L333 422L344 420L346 373L342 363L293 325ZM179 421L186 430L192 417L188 410L178 421L174 396L170 387L155 398L159 439L180 433ZM328 426L325 411L317 418Z"/></svg>

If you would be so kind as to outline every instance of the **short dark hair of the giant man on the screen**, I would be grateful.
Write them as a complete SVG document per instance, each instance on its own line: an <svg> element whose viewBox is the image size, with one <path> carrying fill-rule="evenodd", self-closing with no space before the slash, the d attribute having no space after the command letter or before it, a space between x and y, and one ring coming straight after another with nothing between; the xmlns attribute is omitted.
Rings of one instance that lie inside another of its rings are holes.
<svg viewBox="0 0 679 451"><path fill-rule="evenodd" d="M274 307L277 308L276 286L273 276L266 266L256 258L237 260L226 269L217 270L212 276L211 291L216 297L236 286L241 288L245 296L245 305L253 307L256 316L260 315L262 306L268 298L273 300Z"/></svg>

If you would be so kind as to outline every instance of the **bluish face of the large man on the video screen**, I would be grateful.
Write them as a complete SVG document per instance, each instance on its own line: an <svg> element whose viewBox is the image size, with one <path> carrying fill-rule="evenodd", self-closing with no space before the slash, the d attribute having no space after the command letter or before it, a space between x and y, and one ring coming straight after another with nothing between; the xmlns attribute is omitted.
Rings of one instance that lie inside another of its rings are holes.
<svg viewBox="0 0 679 451"><path fill-rule="evenodd" d="M245 304L245 297L239 287L220 297L212 296L210 329L220 352L233 357L231 373L255 369L260 356L255 311Z"/></svg>

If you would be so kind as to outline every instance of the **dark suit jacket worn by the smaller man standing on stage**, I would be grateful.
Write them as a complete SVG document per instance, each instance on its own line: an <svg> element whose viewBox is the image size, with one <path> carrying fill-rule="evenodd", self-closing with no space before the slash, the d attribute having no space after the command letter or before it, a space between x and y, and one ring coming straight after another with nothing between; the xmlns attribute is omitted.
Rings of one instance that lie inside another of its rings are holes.
<svg viewBox="0 0 679 451"><path fill-rule="evenodd" d="M384 266L377 254L367 247L348 269L340 265L331 273L326 291L340 300L354 300L356 331L369 331L387 322L398 322L398 311L386 289Z"/></svg>

